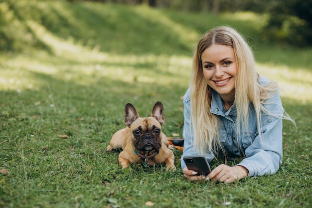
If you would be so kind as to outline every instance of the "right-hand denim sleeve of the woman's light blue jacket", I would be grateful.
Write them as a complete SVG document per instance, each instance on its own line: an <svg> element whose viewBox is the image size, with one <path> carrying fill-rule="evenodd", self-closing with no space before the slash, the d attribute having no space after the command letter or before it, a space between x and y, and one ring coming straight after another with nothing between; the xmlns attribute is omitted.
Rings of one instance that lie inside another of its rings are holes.
<svg viewBox="0 0 312 208"><path fill-rule="evenodd" d="M261 116L262 137L256 134L253 143L245 150L246 158L238 164L248 169L248 177L275 174L282 163L284 110L279 93L267 103L265 108L275 116L268 114Z"/></svg>

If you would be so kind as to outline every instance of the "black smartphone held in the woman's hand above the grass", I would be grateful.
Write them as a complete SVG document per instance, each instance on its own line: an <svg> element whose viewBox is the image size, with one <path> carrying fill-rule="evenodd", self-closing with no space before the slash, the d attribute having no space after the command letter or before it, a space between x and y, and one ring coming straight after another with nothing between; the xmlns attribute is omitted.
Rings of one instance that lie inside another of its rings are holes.
<svg viewBox="0 0 312 208"><path fill-rule="evenodd" d="M210 166L203 155L184 156L183 160L189 170L198 173L197 176L207 176L211 172Z"/></svg>

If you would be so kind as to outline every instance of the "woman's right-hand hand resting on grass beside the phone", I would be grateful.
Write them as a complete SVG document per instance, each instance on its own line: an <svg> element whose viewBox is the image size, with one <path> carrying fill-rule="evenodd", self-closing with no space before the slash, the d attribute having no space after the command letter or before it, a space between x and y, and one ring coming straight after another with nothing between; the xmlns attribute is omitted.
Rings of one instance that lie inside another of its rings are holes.
<svg viewBox="0 0 312 208"><path fill-rule="evenodd" d="M248 170L243 166L227 166L227 165L219 165L210 174L208 174L207 178L211 180L211 182L224 182L224 183L232 183L236 180L241 180L248 176ZM208 180L209 180L208 179Z"/></svg>

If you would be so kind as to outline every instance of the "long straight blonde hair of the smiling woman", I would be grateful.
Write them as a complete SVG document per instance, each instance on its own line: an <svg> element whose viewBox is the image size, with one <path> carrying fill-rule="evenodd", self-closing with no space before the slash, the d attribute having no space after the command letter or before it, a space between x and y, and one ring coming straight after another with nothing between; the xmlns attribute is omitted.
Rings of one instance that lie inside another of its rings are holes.
<svg viewBox="0 0 312 208"><path fill-rule="evenodd" d="M261 137L261 111L270 114L264 108L266 99L273 96L278 90L275 82L263 86L258 82L255 59L251 48L235 29L228 26L213 28L199 40L194 56L190 75L191 121L193 125L194 147L201 153L218 152L219 118L210 112L212 88L203 76L201 54L213 44L230 46L234 50L237 64L235 81L235 105L237 108L236 128L247 131L249 119L249 104L253 103L256 115L258 133ZM222 147L221 147L222 149Z"/></svg>

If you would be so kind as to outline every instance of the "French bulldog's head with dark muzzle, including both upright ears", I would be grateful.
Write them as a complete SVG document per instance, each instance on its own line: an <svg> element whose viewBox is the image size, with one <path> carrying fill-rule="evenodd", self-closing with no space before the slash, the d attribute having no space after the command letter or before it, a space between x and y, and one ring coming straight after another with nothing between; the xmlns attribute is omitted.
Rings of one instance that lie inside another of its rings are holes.
<svg viewBox="0 0 312 208"><path fill-rule="evenodd" d="M161 147L161 126L164 122L163 105L157 102L150 117L141 118L135 107L125 106L125 123L132 132L132 143L142 155L151 155Z"/></svg>

